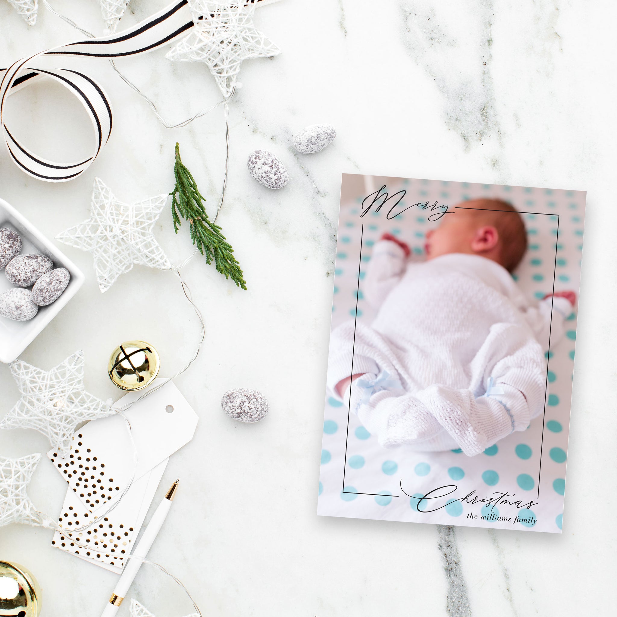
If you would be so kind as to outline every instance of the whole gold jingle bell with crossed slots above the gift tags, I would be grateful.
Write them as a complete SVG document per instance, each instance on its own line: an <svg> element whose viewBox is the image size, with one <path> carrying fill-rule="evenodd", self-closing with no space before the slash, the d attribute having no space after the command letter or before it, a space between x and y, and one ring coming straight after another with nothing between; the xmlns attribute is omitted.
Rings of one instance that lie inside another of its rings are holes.
<svg viewBox="0 0 617 617"><path fill-rule="evenodd" d="M109 378L122 390L141 390L154 381L159 373L159 354L145 341L125 341L111 357L107 370Z"/></svg>

